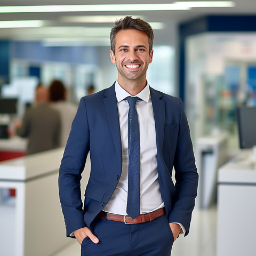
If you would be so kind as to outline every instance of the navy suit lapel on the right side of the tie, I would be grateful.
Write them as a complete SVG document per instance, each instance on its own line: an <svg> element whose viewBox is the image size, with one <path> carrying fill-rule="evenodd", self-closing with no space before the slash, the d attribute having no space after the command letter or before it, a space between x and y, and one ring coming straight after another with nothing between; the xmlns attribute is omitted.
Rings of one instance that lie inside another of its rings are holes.
<svg viewBox="0 0 256 256"><path fill-rule="evenodd" d="M156 126L156 146L157 156L162 156L163 141L164 141L164 123L165 109L164 101L161 100L162 94L150 87L150 95L153 106L153 113Z"/></svg>

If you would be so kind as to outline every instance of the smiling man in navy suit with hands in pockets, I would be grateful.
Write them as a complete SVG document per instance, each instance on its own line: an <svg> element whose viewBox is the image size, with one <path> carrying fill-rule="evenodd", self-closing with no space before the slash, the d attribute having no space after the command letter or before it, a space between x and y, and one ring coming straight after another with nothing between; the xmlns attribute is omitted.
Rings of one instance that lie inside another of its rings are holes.
<svg viewBox="0 0 256 256"><path fill-rule="evenodd" d="M116 21L110 57L117 81L79 103L59 191L67 236L76 237L82 255L169 256L178 235L189 232L198 183L193 147L181 100L147 83L153 38L141 19ZM80 180L89 151L83 207Z"/></svg>

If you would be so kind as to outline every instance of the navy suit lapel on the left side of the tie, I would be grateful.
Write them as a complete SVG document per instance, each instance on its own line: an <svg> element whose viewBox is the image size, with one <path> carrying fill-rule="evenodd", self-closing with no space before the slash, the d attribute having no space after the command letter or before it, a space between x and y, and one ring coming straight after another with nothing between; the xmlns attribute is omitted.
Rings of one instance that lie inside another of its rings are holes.
<svg viewBox="0 0 256 256"><path fill-rule="evenodd" d="M117 100L115 93L115 84L113 84L107 91L105 92L105 99L103 102L105 104L108 122L110 126L110 131L114 140L116 153L118 162L122 169L122 143L121 143L121 132L119 125L119 117L118 117L118 108L117 108Z"/></svg>

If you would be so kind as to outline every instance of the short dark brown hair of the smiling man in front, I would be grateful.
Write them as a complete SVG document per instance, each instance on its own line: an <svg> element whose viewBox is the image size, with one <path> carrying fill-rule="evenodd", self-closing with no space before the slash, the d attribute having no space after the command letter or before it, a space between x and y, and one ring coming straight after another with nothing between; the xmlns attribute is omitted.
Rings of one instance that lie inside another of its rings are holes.
<svg viewBox="0 0 256 256"><path fill-rule="evenodd" d="M149 43L149 52L153 49L153 41L154 41L154 31L147 23L146 21L140 19L140 18L132 18L131 16L126 16L123 19L116 20L116 25L114 28L111 29L110 32L110 44L111 44L111 50L115 54L115 45L116 45L116 34L120 30L126 30L126 29L137 29L148 36L148 43Z"/></svg>

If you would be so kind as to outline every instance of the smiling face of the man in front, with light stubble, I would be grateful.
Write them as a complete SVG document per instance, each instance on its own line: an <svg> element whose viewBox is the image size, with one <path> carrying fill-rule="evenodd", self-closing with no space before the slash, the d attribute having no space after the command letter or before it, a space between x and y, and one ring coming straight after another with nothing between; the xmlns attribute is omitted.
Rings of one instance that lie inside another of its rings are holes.
<svg viewBox="0 0 256 256"><path fill-rule="evenodd" d="M115 54L110 51L111 62L116 63L119 79L146 80L146 71L152 62L148 36L140 30L120 30L115 38Z"/></svg>

